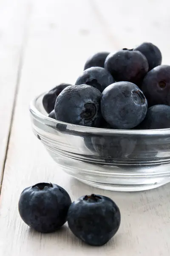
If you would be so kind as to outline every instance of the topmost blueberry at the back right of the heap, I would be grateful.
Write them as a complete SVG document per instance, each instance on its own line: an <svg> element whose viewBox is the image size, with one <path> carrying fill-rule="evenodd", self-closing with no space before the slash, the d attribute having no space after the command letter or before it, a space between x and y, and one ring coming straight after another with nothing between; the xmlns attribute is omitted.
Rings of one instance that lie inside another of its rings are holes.
<svg viewBox="0 0 170 256"><path fill-rule="evenodd" d="M156 45L144 42L143 44L136 47L135 50L142 52L142 54L147 58L149 70L161 65L162 55L159 48Z"/></svg>

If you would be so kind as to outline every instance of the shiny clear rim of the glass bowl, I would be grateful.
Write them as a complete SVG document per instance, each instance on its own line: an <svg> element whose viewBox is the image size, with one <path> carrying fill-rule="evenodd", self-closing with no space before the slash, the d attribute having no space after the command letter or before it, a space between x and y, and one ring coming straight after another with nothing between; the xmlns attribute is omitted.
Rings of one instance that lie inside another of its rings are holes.
<svg viewBox="0 0 170 256"><path fill-rule="evenodd" d="M45 92L46 93L46 92ZM119 129L108 129L108 128L96 128L96 127L88 127L82 125L74 125L67 122L58 121L52 119L48 116L45 116L36 108L37 100L43 96L45 93L41 93L36 96L33 100L31 100L29 104L29 111L34 116L34 118L38 119L40 122L47 122L48 124L57 126L57 124L67 125L67 127L71 128L73 131L84 132L84 133L93 133L93 134L129 134L129 135L170 135L170 128L165 129L150 129L150 130L119 130Z"/></svg>

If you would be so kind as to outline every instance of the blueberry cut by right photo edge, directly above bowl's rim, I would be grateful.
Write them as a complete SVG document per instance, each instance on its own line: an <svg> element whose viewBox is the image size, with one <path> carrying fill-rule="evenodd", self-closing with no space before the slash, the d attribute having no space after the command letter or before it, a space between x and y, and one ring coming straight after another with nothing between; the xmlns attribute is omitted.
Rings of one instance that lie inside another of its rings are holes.
<svg viewBox="0 0 170 256"><path fill-rule="evenodd" d="M142 130L170 128L170 106L155 105L148 108L146 117L137 128Z"/></svg>

